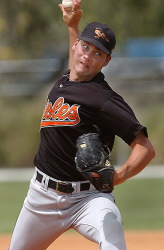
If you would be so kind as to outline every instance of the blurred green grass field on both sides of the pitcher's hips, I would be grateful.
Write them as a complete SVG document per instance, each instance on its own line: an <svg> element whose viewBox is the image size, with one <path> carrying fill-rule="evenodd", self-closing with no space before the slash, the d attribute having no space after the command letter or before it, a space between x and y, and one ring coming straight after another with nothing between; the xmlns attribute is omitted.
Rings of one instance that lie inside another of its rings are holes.
<svg viewBox="0 0 164 250"><path fill-rule="evenodd" d="M28 182L0 183L0 233L11 233ZM115 187L125 230L164 230L163 179L133 179ZM2 202L3 201L3 202Z"/></svg>

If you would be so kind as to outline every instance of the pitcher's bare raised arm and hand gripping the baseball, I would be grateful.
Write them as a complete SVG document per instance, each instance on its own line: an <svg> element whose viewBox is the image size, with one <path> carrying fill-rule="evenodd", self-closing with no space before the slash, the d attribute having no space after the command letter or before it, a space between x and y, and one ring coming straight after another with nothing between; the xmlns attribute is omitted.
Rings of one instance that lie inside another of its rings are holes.
<svg viewBox="0 0 164 250"><path fill-rule="evenodd" d="M62 4L59 4L59 7L63 13L63 20L68 28L69 34L69 68L72 68L73 65L73 50L72 46L79 35L79 22L82 17L81 10L81 0L73 0L73 6L71 11L67 11L63 8Z"/></svg>

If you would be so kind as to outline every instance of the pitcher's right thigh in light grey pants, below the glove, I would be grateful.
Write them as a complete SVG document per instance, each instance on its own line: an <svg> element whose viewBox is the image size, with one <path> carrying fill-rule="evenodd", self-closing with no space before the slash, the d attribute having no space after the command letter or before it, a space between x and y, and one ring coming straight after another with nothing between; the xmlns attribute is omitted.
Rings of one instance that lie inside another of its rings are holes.
<svg viewBox="0 0 164 250"><path fill-rule="evenodd" d="M75 229L99 244L101 250L125 250L125 239L119 209L109 194L90 197Z"/></svg>

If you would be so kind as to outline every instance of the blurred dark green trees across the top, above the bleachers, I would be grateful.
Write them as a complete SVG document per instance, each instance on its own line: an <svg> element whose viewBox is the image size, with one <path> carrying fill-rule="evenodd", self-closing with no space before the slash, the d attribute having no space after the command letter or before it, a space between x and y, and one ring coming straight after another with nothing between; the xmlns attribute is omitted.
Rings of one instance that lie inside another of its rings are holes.
<svg viewBox="0 0 164 250"><path fill-rule="evenodd" d="M0 59L40 58L67 49L60 0L1 0ZM100 21L112 27L118 45L129 37L164 35L163 0L82 0L83 28ZM48 55L46 55L48 54Z"/></svg>

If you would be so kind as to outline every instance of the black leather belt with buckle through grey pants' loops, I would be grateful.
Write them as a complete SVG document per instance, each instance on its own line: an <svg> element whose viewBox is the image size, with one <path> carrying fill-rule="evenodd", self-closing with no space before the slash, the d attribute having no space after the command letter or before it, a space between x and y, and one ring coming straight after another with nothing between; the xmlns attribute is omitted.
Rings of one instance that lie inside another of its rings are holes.
<svg viewBox="0 0 164 250"><path fill-rule="evenodd" d="M36 180L41 183L42 179L43 179L43 175L37 171ZM70 194L74 191L72 183L63 182L63 181L55 181L51 179L49 179L48 181L48 187L56 191L59 191L61 193L66 193L66 194ZM89 189L90 189L90 182L80 183L80 191L87 191Z"/></svg>

